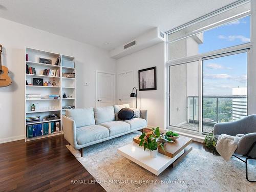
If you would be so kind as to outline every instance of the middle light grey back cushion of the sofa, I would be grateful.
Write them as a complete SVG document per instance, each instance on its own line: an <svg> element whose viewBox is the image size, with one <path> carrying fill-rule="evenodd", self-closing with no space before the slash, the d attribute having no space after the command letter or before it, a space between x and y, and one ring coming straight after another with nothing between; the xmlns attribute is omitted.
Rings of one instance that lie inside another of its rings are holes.
<svg viewBox="0 0 256 192"><path fill-rule="evenodd" d="M94 108L94 118L96 124L114 121L115 113L113 106L104 106L102 108Z"/></svg>

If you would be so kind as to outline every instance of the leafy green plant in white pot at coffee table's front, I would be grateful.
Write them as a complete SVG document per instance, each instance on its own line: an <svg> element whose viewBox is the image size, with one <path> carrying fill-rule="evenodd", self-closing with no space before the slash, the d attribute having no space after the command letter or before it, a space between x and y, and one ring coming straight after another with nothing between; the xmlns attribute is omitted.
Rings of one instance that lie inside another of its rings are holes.
<svg viewBox="0 0 256 192"><path fill-rule="evenodd" d="M146 150L146 148L150 150L150 155L152 158L157 157L158 146L161 146L162 150L165 152L164 144L162 143L160 136L161 133L159 127L157 127L156 129L153 129L152 134L142 133L141 136L139 137L139 139L141 139L139 146L143 145L144 151Z"/></svg>

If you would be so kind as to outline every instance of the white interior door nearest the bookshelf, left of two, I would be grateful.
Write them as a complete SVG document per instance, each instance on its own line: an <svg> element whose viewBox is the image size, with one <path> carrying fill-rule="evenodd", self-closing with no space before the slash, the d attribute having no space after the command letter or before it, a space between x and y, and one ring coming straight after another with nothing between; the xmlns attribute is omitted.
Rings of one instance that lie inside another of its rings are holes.
<svg viewBox="0 0 256 192"><path fill-rule="evenodd" d="M97 72L96 106L109 106L115 103L115 75Z"/></svg>

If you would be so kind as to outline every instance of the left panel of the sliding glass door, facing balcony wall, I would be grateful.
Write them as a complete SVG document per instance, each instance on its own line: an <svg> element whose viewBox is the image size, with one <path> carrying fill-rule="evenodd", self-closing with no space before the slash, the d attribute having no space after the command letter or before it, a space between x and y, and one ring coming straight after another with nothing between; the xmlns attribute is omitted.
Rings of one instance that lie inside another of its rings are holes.
<svg viewBox="0 0 256 192"><path fill-rule="evenodd" d="M169 125L199 131L199 62L169 67Z"/></svg>

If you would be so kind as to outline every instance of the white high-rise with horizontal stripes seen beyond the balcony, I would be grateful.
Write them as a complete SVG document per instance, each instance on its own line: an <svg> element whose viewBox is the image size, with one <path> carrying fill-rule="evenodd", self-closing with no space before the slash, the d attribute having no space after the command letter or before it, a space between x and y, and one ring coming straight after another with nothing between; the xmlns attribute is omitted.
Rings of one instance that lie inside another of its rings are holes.
<svg viewBox="0 0 256 192"><path fill-rule="evenodd" d="M232 119L235 121L247 116L247 88L233 88L232 95L244 97L232 99Z"/></svg>

